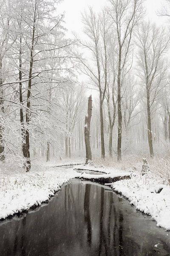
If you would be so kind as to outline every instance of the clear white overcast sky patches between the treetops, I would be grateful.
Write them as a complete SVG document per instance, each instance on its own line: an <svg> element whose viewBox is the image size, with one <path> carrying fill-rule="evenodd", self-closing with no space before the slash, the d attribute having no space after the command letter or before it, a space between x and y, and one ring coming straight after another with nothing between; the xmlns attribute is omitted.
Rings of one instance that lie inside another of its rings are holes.
<svg viewBox="0 0 170 256"><path fill-rule="evenodd" d="M92 6L96 11L99 11L107 2L107 0L64 0L60 3L58 11L65 12L65 27L68 29L68 34L71 34L71 32L82 33L81 13L88 9L88 6ZM145 1L147 16L150 20L156 23L163 22L163 18L156 15L156 11L161 8L163 3L164 0Z"/></svg>

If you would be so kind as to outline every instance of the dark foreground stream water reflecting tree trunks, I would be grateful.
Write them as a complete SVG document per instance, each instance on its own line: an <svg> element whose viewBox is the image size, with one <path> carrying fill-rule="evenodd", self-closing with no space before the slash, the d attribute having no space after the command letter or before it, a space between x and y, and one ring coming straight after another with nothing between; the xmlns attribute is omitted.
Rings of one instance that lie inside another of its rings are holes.
<svg viewBox="0 0 170 256"><path fill-rule="evenodd" d="M170 255L167 232L95 183L73 180L37 211L0 223L0 256L159 255Z"/></svg>

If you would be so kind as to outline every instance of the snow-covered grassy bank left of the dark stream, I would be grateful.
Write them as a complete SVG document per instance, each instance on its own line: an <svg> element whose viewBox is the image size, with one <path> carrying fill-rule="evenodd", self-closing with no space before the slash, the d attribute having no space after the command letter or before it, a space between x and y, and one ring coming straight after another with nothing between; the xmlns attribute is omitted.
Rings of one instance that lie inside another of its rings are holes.
<svg viewBox="0 0 170 256"><path fill-rule="evenodd" d="M23 169L0 169L0 219L48 201L63 183L76 176L77 172L72 168L48 167L29 173L25 173Z"/></svg>

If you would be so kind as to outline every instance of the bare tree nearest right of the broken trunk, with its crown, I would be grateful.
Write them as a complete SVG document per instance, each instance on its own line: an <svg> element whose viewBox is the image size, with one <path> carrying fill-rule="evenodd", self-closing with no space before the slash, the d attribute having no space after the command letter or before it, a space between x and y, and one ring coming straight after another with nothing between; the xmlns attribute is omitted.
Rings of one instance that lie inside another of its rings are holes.
<svg viewBox="0 0 170 256"><path fill-rule="evenodd" d="M103 102L107 88L107 28L105 26L106 20L103 19L101 23L100 15L96 15L92 8L89 8L89 13L85 12L82 15L82 21L85 25L85 34L89 38L89 42L82 43L83 47L88 49L93 57L95 67L91 67L86 61L81 60L84 70L83 72L90 78L92 84L99 90L99 113L100 113L100 138L101 138L101 156L105 158L105 139L104 139L104 122L103 122ZM102 26L103 24L103 26ZM101 26L103 29L101 39ZM102 42L101 42L102 41ZM102 66L101 49L104 46L105 64ZM103 67L103 68L102 68ZM102 81L103 74L105 74L104 82Z"/></svg>

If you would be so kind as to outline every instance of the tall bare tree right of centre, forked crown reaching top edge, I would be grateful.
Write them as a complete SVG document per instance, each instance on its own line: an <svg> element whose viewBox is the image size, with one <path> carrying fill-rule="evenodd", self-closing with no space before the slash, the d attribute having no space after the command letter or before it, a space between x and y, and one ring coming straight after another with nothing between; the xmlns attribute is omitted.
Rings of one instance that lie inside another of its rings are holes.
<svg viewBox="0 0 170 256"><path fill-rule="evenodd" d="M111 8L108 13L111 16L116 29L116 40L118 44L118 70L117 70L117 107L118 107L118 140L117 160L122 159L122 104L121 88L123 83L123 72L127 65L127 58L131 49L132 33L142 17L143 0L110 0ZM133 55L132 55L133 56ZM125 74L124 74L125 76Z"/></svg>

